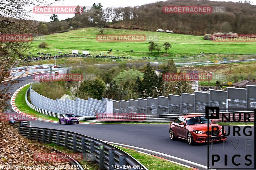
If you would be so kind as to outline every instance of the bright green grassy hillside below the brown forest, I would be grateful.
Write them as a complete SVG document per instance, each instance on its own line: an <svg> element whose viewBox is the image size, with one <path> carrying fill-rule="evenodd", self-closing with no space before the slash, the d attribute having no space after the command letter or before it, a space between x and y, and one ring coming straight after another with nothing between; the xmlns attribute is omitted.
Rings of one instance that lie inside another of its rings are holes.
<svg viewBox="0 0 256 170"><path fill-rule="evenodd" d="M172 48L168 51L169 55L164 55L164 48L158 54L154 51L153 55L148 51L148 41L146 42L98 42L96 36L100 34L99 28L90 27L77 30L71 30L65 33L56 33L46 35L46 40L49 44L48 48L38 48L42 41L33 41L30 46L32 55L36 52L58 54L58 51L63 53L71 53L72 49L89 50L92 55L99 53L107 54L107 51L112 48L111 55L116 56L135 56L134 58L141 59L142 56L156 57L178 57L197 55L200 52L215 53L215 54L256 54L256 42L212 42L203 39L203 36L183 35L158 33L149 31L123 30L104 28L104 34L145 34L156 35L158 41L162 45L164 42L170 42ZM134 52L130 52L133 49ZM116 52L119 50L119 52ZM137 57L136 57L137 56Z"/></svg>

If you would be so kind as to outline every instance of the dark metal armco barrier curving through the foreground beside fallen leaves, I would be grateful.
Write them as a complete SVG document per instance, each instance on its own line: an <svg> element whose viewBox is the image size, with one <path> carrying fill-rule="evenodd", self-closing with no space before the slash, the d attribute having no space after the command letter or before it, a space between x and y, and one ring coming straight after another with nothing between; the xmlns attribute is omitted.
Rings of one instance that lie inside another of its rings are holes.
<svg viewBox="0 0 256 170"><path fill-rule="evenodd" d="M127 167L136 167L131 170L148 170L128 153L92 137L63 130L36 127L20 126L19 131L22 136L29 139L48 144L54 143L72 149L74 152L83 153L83 157L86 154L91 155L91 158L95 158L94 161L99 169L114 170L113 165L126 165Z"/></svg>

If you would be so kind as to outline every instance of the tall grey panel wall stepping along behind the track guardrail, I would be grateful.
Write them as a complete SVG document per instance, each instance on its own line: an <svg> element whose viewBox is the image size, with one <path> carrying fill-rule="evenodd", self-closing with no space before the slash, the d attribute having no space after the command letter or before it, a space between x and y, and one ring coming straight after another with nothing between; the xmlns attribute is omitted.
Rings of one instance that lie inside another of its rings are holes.
<svg viewBox="0 0 256 170"><path fill-rule="evenodd" d="M46 98L30 87L31 103L41 109L54 113L73 113L77 116L95 116L106 113L107 101L113 102L113 113L141 113L146 115L205 113L205 106L220 108L256 108L256 86L247 85L247 89L228 88L227 91L210 90L210 93L195 92L195 94L181 93L181 96L169 94L168 97L157 96L137 98L128 101L116 101L102 98L96 100L52 100ZM246 110L246 109L244 109ZM226 112L226 109L220 109ZM243 111L243 110L241 110Z"/></svg>

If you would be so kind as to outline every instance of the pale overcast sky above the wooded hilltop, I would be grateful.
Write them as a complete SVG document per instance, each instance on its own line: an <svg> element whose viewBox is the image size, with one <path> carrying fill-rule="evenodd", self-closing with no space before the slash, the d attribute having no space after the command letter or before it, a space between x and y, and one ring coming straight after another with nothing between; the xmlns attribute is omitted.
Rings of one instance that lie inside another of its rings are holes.
<svg viewBox="0 0 256 170"><path fill-rule="evenodd" d="M93 3L99 4L101 3L103 8L107 7L126 7L126 6L137 6L137 5L143 5L143 4L149 4L153 2L157 2L158 0L128 0L128 1L122 1L122 0L60 0L59 2L56 2L52 4L51 6L92 6ZM213 1L227 1L227 0L213 0ZM232 2L238 2L240 0L232 0ZM250 0L253 2L253 4L256 4L256 0ZM50 16L52 14L34 14L32 13L31 16L33 17L33 20L38 21L50 21ZM57 14L59 20L66 19L66 18L72 18L74 14Z"/></svg>

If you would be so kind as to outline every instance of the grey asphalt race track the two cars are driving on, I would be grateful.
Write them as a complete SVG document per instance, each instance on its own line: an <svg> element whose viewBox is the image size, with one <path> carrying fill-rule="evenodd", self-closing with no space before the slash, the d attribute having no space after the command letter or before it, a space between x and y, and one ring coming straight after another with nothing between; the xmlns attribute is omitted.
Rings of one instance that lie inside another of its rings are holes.
<svg viewBox="0 0 256 170"><path fill-rule="evenodd" d="M20 83L13 85L9 90L9 92L10 93L15 92L22 85L30 83L31 80L32 80L32 76L20 78L19 79ZM160 156L169 160L180 162L182 164L196 167L199 169L207 168L207 144L197 144L194 146L190 146L187 143L187 141L183 141L183 140L172 141L169 137L169 125L166 125L166 124L78 124L78 125L61 124L59 125L58 123L32 121L32 126L67 130L71 132L84 134L90 137L94 137L103 141L139 147L143 149L136 148L136 150L147 152L156 156ZM243 129L244 127L245 126L240 126L241 129ZM239 168L245 167L244 163L248 163L248 161L244 159L245 154L252 154L252 157L250 157L250 159L252 160L252 165L253 165L255 163L255 157L253 155L255 151L255 148L253 147L255 141L253 136L254 135L253 126L251 127L252 127L251 129L252 136L250 137L245 137L242 130L240 131L241 137L228 136L228 139L225 142L224 146L222 142L214 143L212 145L212 150L211 150L211 145L210 145L210 155L211 153L218 153L219 155L221 155L220 161L215 163L214 166L210 164L210 167L237 169L238 167L233 166L232 160L231 160L231 157L235 154L241 155L240 158L236 157L234 159L236 163L238 162L241 163ZM231 132L230 134L233 135L232 127L230 129L230 132ZM248 139L248 141L245 141L245 139ZM247 143L247 148L245 147L245 143ZM150 151L145 151L144 149L147 149ZM155 152L151 152L151 151L155 151ZM223 156L224 154L228 155L227 166L224 166L224 156ZM185 159L200 165L197 165L191 162L184 162L183 160L174 159L173 157ZM251 167L253 166L250 166L250 168Z"/></svg>

